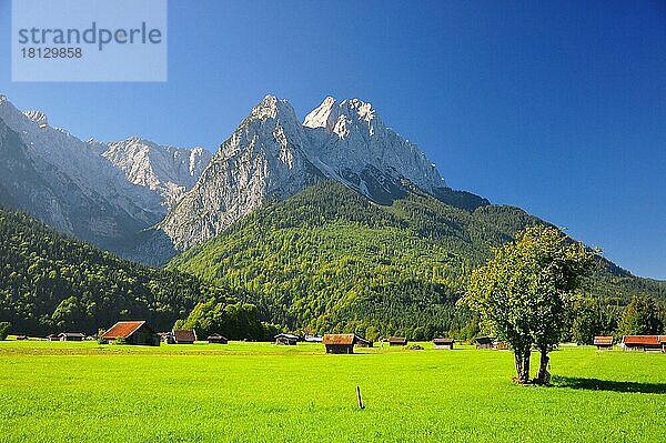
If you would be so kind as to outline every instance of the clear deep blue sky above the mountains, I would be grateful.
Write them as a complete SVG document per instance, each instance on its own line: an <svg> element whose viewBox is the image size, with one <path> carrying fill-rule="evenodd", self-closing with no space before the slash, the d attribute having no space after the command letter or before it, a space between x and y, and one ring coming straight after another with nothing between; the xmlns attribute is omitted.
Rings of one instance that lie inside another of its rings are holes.
<svg viewBox="0 0 666 443"><path fill-rule="evenodd" d="M170 1L165 83L12 83L87 139L214 150L266 93L371 101L448 184L666 279L666 2Z"/></svg>

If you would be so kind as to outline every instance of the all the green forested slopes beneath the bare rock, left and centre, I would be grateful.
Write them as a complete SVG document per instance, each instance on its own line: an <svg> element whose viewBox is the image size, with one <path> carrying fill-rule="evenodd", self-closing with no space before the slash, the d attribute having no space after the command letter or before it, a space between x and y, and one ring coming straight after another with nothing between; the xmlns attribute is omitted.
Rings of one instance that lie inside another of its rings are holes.
<svg viewBox="0 0 666 443"><path fill-rule="evenodd" d="M251 213L165 270L121 260L22 212L0 210L0 321L32 334L92 333L123 319L170 329L206 303L234 338L266 339L274 329L259 320L369 338L473 335L471 314L455 306L471 270L491 246L542 221L471 194L452 202L465 209L415 189L377 205L324 182ZM601 260L589 294L599 300L591 315L608 312L610 330L632 295L664 301L666 284Z"/></svg>

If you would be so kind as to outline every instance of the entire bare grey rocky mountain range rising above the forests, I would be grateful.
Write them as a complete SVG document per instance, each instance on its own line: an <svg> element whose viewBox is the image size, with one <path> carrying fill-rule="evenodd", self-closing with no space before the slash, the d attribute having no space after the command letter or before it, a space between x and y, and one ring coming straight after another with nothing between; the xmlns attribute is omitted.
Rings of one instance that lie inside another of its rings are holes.
<svg viewBox="0 0 666 443"><path fill-rule="evenodd" d="M139 137L82 141L0 95L0 137L4 205L151 264L324 180L379 204L405 194L402 180L457 197L415 144L357 99L327 97L301 122L287 101L266 95L210 154Z"/></svg>

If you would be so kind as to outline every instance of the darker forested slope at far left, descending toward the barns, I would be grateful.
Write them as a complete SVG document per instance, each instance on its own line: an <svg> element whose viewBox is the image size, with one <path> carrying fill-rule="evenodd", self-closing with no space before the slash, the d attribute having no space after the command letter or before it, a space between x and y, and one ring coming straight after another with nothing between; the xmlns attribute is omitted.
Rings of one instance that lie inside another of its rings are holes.
<svg viewBox="0 0 666 443"><path fill-rule="evenodd" d="M0 321L11 322L12 331L93 333L123 319L171 329L198 302L234 303L236 296L176 270L121 260L26 213L0 210Z"/></svg>

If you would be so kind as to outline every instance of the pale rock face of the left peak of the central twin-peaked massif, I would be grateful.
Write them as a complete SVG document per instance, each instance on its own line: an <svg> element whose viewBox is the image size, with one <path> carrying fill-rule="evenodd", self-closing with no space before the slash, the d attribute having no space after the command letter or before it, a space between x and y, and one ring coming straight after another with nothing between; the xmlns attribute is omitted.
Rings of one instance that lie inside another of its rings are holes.
<svg viewBox="0 0 666 443"><path fill-rule="evenodd" d="M266 201L293 195L323 177L304 153L309 143L292 107L266 97L222 143L160 229L185 250Z"/></svg>

